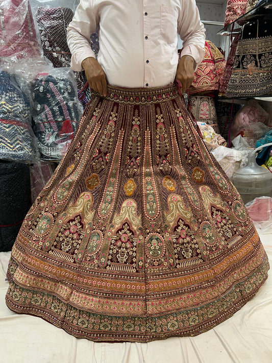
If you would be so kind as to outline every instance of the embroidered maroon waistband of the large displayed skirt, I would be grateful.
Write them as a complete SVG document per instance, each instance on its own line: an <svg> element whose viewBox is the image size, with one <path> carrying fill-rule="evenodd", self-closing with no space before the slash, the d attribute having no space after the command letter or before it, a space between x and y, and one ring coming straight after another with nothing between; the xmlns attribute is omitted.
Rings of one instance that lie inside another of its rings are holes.
<svg viewBox="0 0 272 363"><path fill-rule="evenodd" d="M169 101L175 99L179 94L176 84L152 88L123 88L108 85L107 90L108 93L107 96L103 97L104 99L130 105L146 105ZM94 91L92 93L98 95Z"/></svg>

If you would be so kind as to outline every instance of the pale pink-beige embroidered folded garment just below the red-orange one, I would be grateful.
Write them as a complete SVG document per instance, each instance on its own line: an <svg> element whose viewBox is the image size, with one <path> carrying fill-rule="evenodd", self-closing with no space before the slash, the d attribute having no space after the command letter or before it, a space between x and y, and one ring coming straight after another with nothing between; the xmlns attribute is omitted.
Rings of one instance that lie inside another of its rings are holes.
<svg viewBox="0 0 272 363"><path fill-rule="evenodd" d="M197 122L217 124L217 115L213 97L191 96L190 107Z"/></svg>

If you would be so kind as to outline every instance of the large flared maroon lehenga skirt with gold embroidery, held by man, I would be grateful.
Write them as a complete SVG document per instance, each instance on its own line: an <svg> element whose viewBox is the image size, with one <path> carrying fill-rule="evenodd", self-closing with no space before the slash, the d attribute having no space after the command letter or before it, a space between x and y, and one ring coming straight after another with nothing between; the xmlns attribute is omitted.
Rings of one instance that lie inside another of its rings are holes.
<svg viewBox="0 0 272 363"><path fill-rule="evenodd" d="M176 87L108 86L23 222L6 301L77 337L149 342L226 320L268 268Z"/></svg>

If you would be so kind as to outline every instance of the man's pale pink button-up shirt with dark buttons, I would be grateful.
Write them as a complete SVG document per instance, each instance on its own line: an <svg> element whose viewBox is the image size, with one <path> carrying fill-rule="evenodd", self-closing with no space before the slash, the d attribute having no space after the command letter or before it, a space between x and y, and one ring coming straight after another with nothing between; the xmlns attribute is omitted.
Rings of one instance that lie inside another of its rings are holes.
<svg viewBox="0 0 272 363"><path fill-rule="evenodd" d="M107 82L120 87L160 87L175 81L178 34L181 56L198 64L204 57L205 29L195 0L81 0L67 28L71 68L95 57L90 35L100 24L97 61Z"/></svg>

